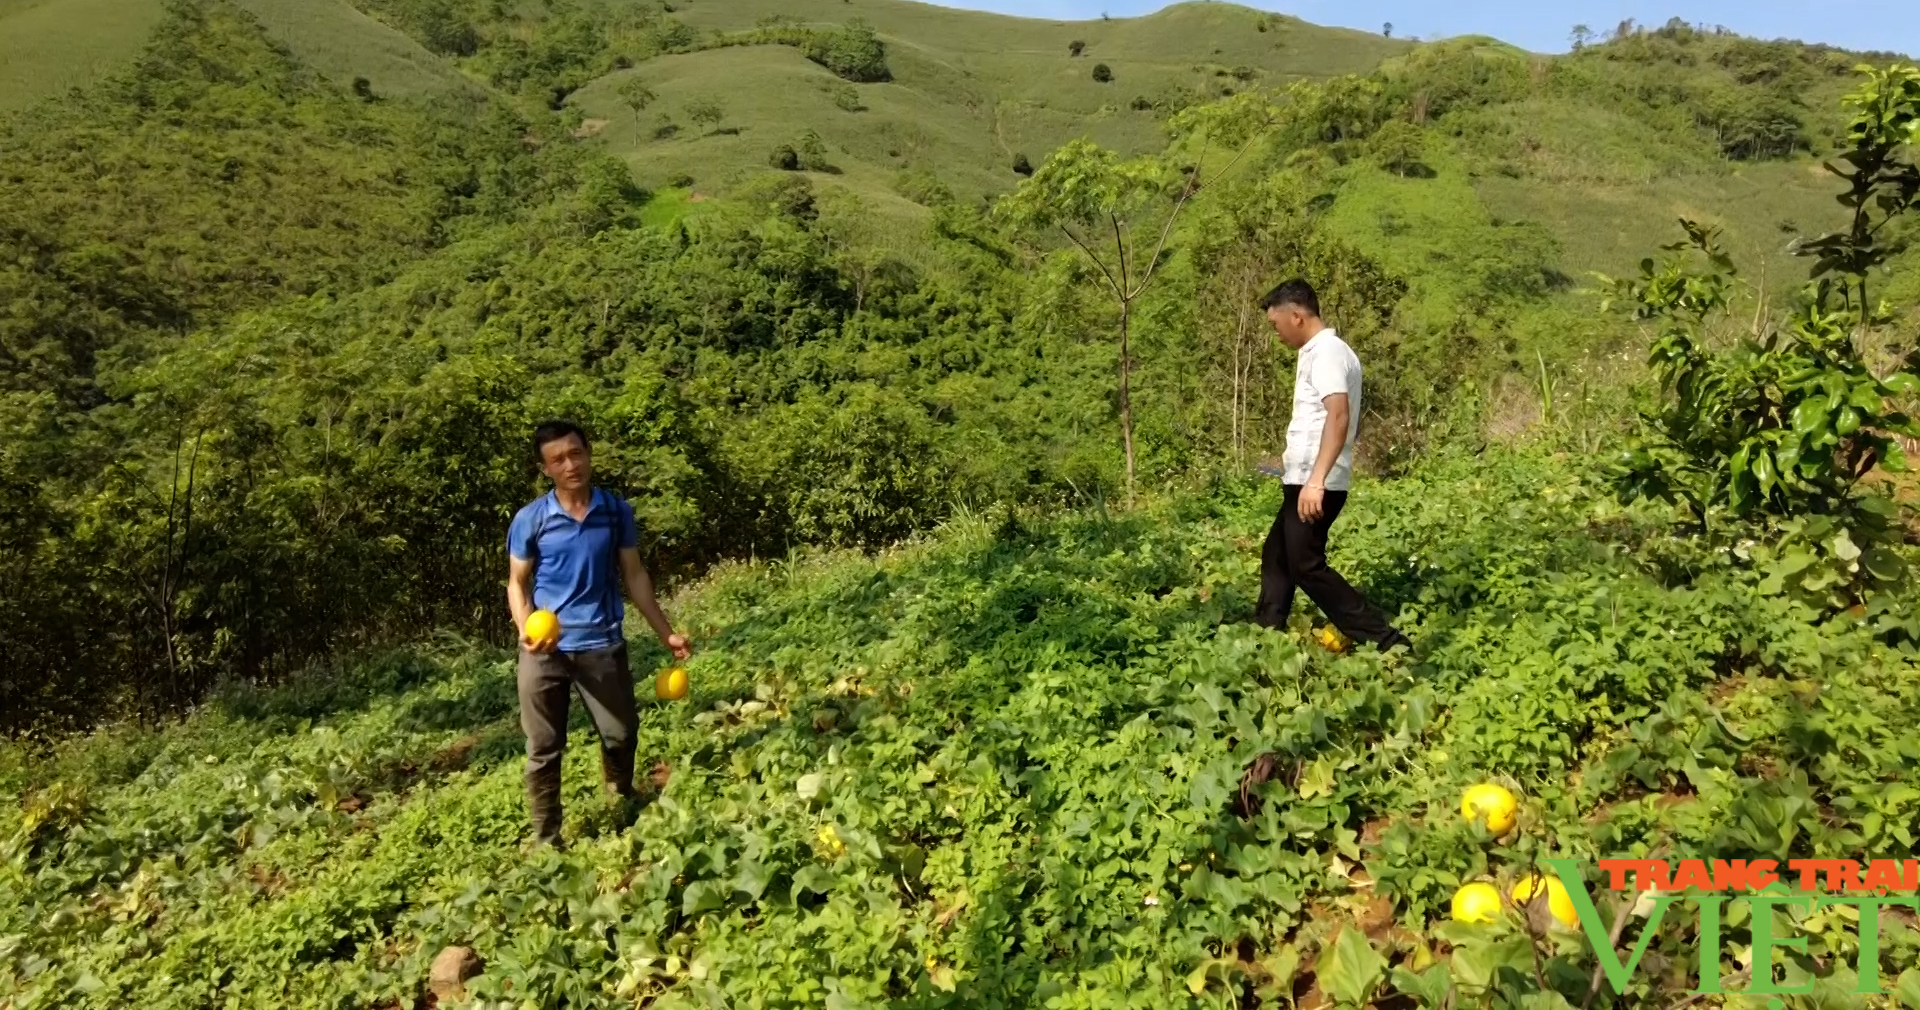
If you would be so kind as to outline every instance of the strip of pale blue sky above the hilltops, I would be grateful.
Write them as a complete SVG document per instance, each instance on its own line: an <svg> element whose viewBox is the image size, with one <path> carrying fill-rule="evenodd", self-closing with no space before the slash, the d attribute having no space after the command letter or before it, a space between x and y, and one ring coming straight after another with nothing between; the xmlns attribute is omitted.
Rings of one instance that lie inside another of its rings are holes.
<svg viewBox="0 0 1920 1010"><path fill-rule="evenodd" d="M993 10L1048 19L1150 13L1165 0L935 0L948 8ZM1596 31L1632 17L1665 23L1680 15L1693 23L1726 25L1761 38L1803 38L1853 50L1893 50L1920 56L1920 0L1240 0L1244 6L1292 13L1317 25L1346 25L1394 35L1436 38L1492 35L1534 52L1565 52L1576 23Z"/></svg>

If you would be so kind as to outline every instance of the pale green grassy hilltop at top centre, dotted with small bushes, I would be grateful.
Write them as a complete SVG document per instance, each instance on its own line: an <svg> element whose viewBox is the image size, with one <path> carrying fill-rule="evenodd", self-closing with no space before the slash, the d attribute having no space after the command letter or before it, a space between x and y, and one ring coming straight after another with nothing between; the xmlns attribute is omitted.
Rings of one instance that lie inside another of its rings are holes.
<svg viewBox="0 0 1920 1010"><path fill-rule="evenodd" d="M609 121L605 142L636 167L643 184L691 175L724 190L766 171L768 154L816 131L845 175L829 179L883 200L893 175L922 169L968 196L996 194L1020 180L1014 157L1039 163L1073 136L1129 154L1162 142L1160 115L1137 100L1223 94L1296 79L1365 73L1404 42L1321 29L1233 4L1175 4L1148 17L1062 23L935 8L900 0L705 2L680 17L708 31L749 31L764 17L837 25L862 17L887 44L893 81L847 84L783 46L666 56L582 88L570 106ZM1069 54L1071 42L1085 54ZM1106 63L1112 83L1096 83ZM1240 77L1233 77L1240 71ZM616 88L643 79L660 102L634 129ZM835 106L852 86L858 111ZM728 108L726 136L687 131L687 102ZM682 132L655 140L660 111Z"/></svg>

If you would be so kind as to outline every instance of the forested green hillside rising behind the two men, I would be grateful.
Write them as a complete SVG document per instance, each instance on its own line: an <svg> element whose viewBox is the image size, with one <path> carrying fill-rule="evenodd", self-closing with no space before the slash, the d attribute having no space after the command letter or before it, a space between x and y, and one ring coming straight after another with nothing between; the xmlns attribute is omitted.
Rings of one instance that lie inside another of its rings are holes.
<svg viewBox="0 0 1920 1010"><path fill-rule="evenodd" d="M1169 69L1144 108L1117 109L1139 117L1137 138L1210 94L1254 88L1275 109L1190 204L1139 305L1146 484L1273 445L1284 363L1244 307L1275 277L1336 278L1334 321L1371 363L1369 455L1390 472L1486 424L1523 430L1555 390L1586 445L1617 430L1596 390L1638 353L1594 313L1584 271L1622 267L1668 215L1724 225L1749 269L1786 225L1837 223L1805 157L1837 138L1847 60L1684 27L1540 60L1482 40L1317 36L1229 6L1069 27L900 8L952 21L935 60L910 38L920 21L887 6L864 12L872 25L718 4L601 21L371 6L392 29L332 10L175 4L115 77L4 127L0 227L23 252L4 267L0 323L0 474L19 490L6 551L25 572L8 626L46 628L10 645L15 728L161 710L221 678L426 628L499 634L474 572L497 566L497 528L534 490L518 440L545 415L603 434L607 478L641 499L662 572L877 545L956 505L1123 497L1112 305L1085 261L1054 255L1058 238L975 202L1020 180L1012 165L970 182L939 152L889 161L795 136L795 157L831 165L781 171L755 150L764 134L722 119L645 142L695 157L718 188L649 194L649 169L636 179L616 157L637 154L616 127L586 129L580 104L641 81L664 108L643 115L684 121L678 104L718 84L699 84L699 61L733 61L741 81L824 75L858 92L833 117L883 132L948 123L925 102L966 104L975 86L1000 96L981 109L1048 96L1058 117L1012 119L1058 138L1046 131L1100 121L1083 108L1096 96L1044 83L1052 69L993 69L989 50L1027 52L1000 46L1008 31L1035 60L1058 44L1044 60L1071 67L1146 60L1162 29L1246 67L1267 60L1250 77ZM305 48L288 35L300 25ZM468 83L355 84L378 77L355 60L397 52L371 29L413 33L438 54L432 73ZM1300 63L1300 38L1338 65ZM1092 56L1071 56L1075 40ZM1390 54L1375 73L1267 90ZM972 83L914 84L914 60ZM676 98L682 65L691 90ZM708 142L747 148L685 146ZM1753 175L1805 182L1745 200L1736 186ZM1686 200L1642 200L1649 186ZM1786 290L1795 269L1763 277ZM1899 271L1893 292L1910 284Z"/></svg>

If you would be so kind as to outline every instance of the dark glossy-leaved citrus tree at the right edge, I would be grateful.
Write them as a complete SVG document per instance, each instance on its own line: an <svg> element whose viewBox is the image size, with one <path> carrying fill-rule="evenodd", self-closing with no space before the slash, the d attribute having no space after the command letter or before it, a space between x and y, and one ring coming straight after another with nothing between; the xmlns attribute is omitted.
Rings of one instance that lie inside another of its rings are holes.
<svg viewBox="0 0 1920 1010"><path fill-rule="evenodd" d="M1920 196L1920 69L1864 69L1847 96L1847 150L1826 167L1847 188L1845 230L1803 244L1814 257L1799 305L1778 323L1716 340L1738 284L1718 230L1682 221L1686 240L1611 282L1636 319L1659 326L1651 365L1663 403L1615 472L1628 499L1684 503L1701 534L1770 526L1780 549L1759 561L1780 589L1849 607L1905 578L1885 547L1897 505L1862 486L1876 467L1905 470L1895 436L1920 436L1899 409L1920 390L1907 367L1876 373L1872 336L1893 323L1872 278L1893 252L1887 227ZM1724 344L1724 346L1716 346Z"/></svg>

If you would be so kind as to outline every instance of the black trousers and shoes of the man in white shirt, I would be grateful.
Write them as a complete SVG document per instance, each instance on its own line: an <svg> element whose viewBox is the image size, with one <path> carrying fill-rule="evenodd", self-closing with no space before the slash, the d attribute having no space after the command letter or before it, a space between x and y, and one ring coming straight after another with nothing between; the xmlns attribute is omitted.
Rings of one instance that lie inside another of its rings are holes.
<svg viewBox="0 0 1920 1010"><path fill-rule="evenodd" d="M1340 578L1340 572L1327 566L1327 530L1340 518L1344 507L1346 492L1327 492L1321 517L1306 522L1300 518L1300 484L1286 486L1286 501L1260 553L1260 603L1254 605L1254 620L1267 628L1284 628L1294 613L1298 588L1346 637L1371 641L1380 649L1402 645L1407 637L1386 622L1386 614L1367 603L1367 597Z"/></svg>

